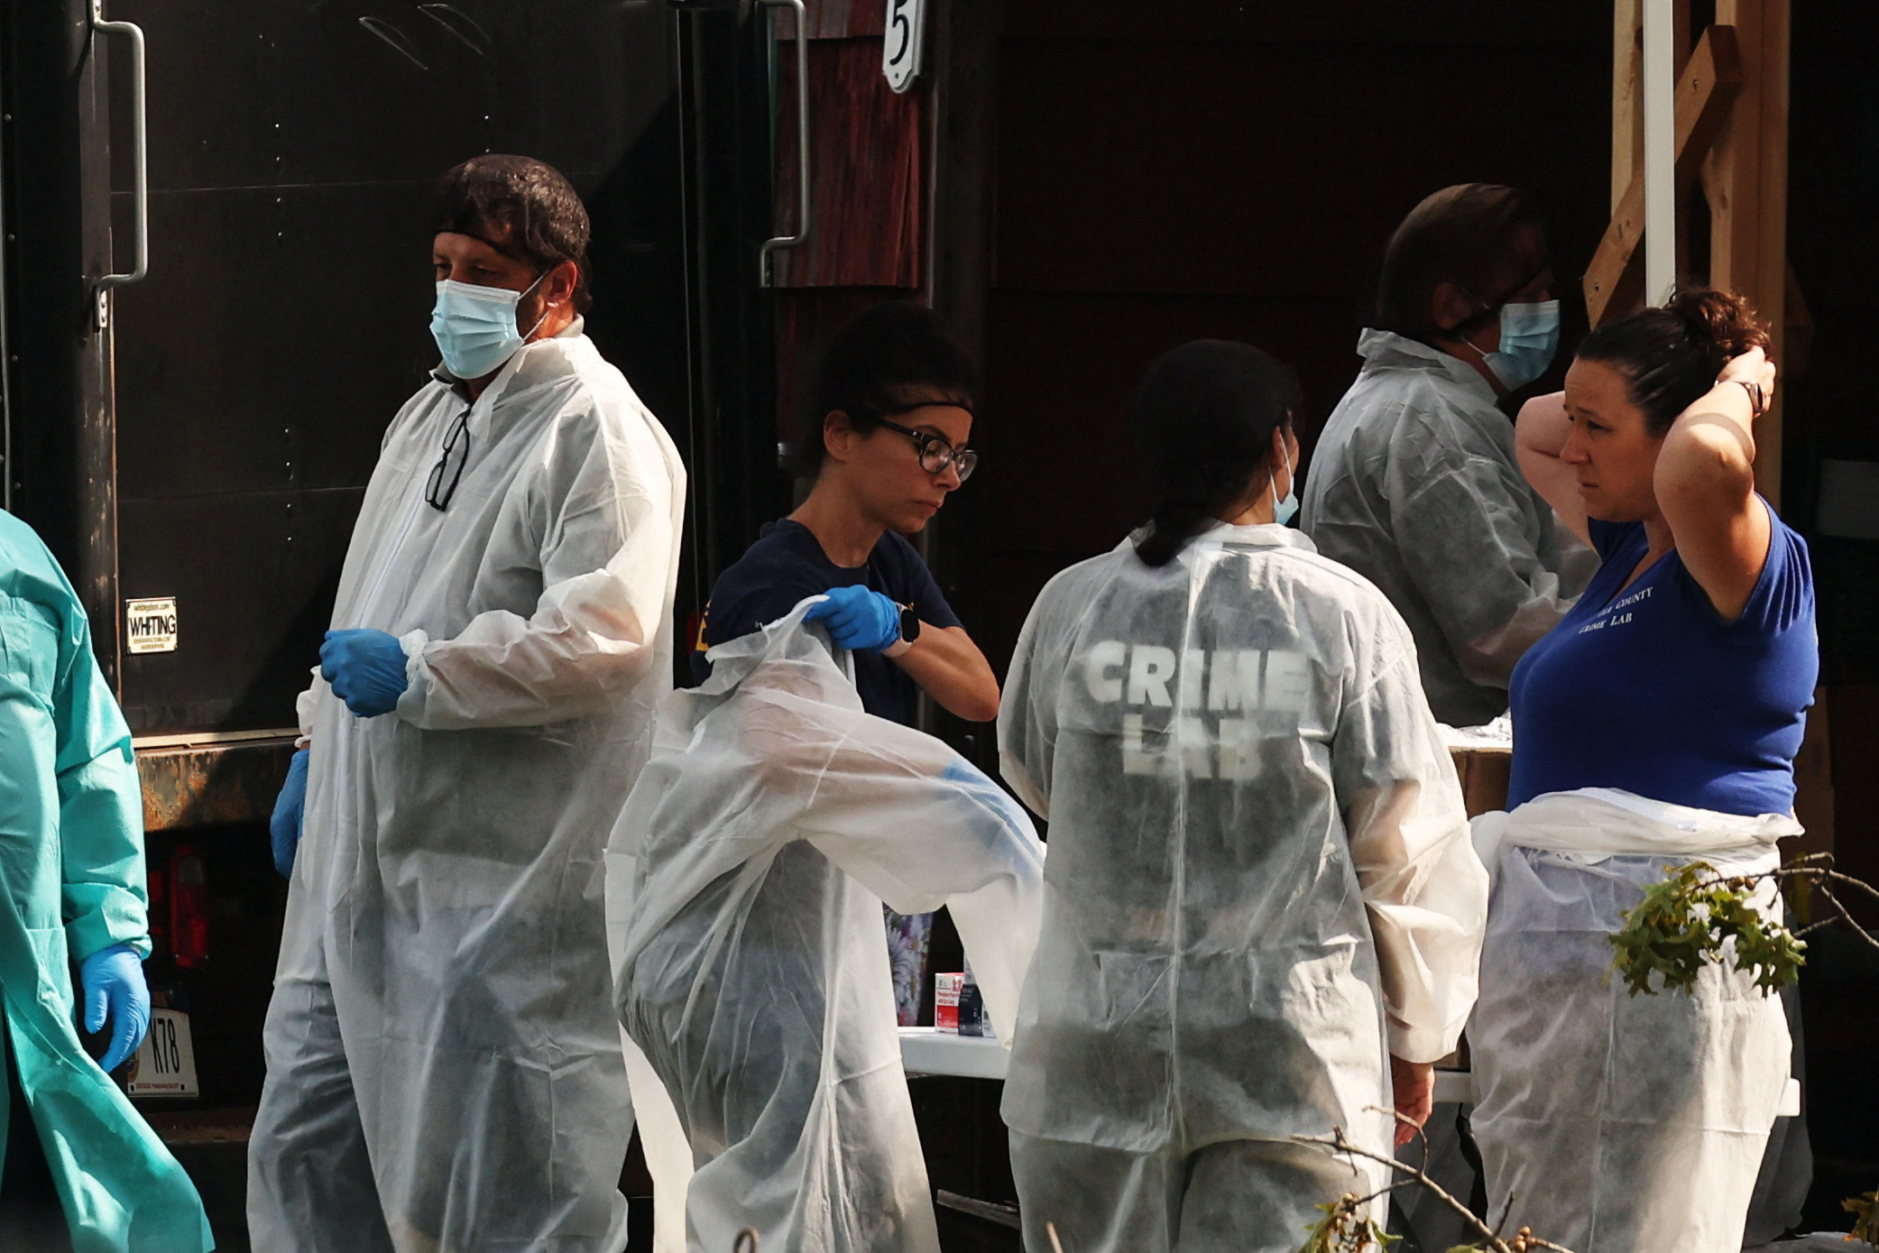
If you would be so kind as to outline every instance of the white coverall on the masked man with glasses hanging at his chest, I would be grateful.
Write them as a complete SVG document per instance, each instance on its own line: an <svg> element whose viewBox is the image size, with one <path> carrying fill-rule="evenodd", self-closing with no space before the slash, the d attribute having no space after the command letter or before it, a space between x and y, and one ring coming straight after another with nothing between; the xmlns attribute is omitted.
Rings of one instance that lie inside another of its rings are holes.
<svg viewBox="0 0 1879 1253"><path fill-rule="evenodd" d="M468 408L447 509L427 479ZM684 466L575 321L385 432L334 627L400 637L355 718L316 678L250 1144L257 1249L620 1249L631 1103L601 855L671 689Z"/></svg>

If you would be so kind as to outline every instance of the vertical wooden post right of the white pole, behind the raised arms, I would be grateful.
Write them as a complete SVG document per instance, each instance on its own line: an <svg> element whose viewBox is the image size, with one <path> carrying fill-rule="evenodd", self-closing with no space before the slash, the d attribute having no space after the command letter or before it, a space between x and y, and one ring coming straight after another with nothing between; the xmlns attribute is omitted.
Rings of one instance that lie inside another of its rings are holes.
<svg viewBox="0 0 1879 1253"><path fill-rule="evenodd" d="M1702 171L1710 197L1710 284L1742 295L1787 348L1789 0L1716 0L1742 51L1742 92ZM1781 389L1755 425L1755 490L1781 503Z"/></svg>

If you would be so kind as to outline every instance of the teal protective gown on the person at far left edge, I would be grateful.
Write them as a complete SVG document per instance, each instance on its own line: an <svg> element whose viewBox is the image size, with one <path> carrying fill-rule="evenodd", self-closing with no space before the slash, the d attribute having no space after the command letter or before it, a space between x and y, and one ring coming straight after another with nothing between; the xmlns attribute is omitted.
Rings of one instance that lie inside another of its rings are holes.
<svg viewBox="0 0 1879 1253"><path fill-rule="evenodd" d="M148 956L143 802L130 729L53 554L0 513L0 1001L75 1253L201 1253L182 1167L85 1054L71 969ZM0 1101L0 1153L8 1103Z"/></svg>

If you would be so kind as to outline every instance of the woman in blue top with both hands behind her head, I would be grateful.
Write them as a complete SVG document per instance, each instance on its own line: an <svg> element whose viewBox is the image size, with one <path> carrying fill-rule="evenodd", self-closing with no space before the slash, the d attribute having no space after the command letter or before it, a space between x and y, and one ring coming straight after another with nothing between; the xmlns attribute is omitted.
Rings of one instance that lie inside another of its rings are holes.
<svg viewBox="0 0 1879 1253"><path fill-rule="evenodd" d="M1740 297L1682 293L1520 413L1528 481L1603 565L1514 671L1511 812L1477 821L1473 1125L1490 1210L1582 1253L1740 1247L1787 1084L1778 998L1717 967L1627 996L1607 939L1669 868L1770 870L1800 830L1819 657L1808 547L1755 492L1766 346Z"/></svg>

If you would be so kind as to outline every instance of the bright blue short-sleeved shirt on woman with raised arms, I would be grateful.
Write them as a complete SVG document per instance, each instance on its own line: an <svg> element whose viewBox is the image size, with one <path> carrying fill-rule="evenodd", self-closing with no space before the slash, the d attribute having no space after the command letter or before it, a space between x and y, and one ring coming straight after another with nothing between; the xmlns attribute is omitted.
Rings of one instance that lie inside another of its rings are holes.
<svg viewBox="0 0 1879 1253"><path fill-rule="evenodd" d="M1721 813L1793 812L1821 656L1808 543L1768 518L1768 564L1736 622L1674 549L1620 596L1650 549L1644 524L1592 522L1599 573L1514 667L1509 808L1620 787Z"/></svg>

